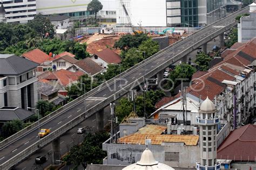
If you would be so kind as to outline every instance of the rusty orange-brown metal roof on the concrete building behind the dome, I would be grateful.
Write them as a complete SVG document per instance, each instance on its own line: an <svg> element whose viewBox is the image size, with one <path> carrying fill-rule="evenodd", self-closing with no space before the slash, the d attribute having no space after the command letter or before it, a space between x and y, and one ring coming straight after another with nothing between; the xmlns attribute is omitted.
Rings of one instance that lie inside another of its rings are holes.
<svg viewBox="0 0 256 170"><path fill-rule="evenodd" d="M152 145L165 143L184 143L187 146L196 146L198 135L173 135L173 134L140 134L134 133L118 139L118 143L145 144L145 139L151 139Z"/></svg>

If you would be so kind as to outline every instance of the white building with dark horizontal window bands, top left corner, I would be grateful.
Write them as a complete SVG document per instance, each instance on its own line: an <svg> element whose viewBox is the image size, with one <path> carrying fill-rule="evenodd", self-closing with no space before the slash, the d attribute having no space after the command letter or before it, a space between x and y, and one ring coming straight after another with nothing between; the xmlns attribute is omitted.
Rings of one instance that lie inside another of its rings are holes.
<svg viewBox="0 0 256 170"><path fill-rule="evenodd" d="M7 22L27 23L36 15L36 0L3 0Z"/></svg>

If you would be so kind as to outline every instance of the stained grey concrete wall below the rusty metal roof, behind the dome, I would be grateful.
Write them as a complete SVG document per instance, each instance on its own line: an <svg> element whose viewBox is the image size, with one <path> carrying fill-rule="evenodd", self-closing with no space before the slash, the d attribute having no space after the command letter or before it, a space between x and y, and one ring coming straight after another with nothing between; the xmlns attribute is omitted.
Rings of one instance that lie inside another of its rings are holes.
<svg viewBox="0 0 256 170"><path fill-rule="evenodd" d="M164 146L163 146L164 145ZM200 160L199 146L184 146L181 143L164 143L163 145L149 145L154 158L171 167L195 167ZM103 144L103 150L107 151L108 165L130 165L140 160L145 145L132 144ZM178 155L178 161L169 161L169 153Z"/></svg>

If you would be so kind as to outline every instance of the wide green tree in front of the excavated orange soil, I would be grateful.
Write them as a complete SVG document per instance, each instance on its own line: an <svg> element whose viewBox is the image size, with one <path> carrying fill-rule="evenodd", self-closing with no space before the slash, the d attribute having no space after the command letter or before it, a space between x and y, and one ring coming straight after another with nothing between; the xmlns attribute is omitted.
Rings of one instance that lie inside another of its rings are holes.
<svg viewBox="0 0 256 170"><path fill-rule="evenodd" d="M135 33L134 35L127 34L114 43L114 48L120 48L123 51L127 51L130 48L138 48L139 45L147 39L149 39L149 37L144 33Z"/></svg>

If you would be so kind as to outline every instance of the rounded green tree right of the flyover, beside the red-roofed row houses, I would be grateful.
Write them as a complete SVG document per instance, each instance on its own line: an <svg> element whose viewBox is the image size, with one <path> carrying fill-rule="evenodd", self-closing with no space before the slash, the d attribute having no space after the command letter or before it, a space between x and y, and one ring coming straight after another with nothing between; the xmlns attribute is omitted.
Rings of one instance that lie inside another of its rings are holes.
<svg viewBox="0 0 256 170"><path fill-rule="evenodd" d="M182 63L181 65L177 65L174 70L169 75L169 79L174 82L174 88L177 87L181 80L183 82L189 82L192 78L192 75L196 72L196 68L191 65ZM184 80L185 79L185 80ZM171 88L173 86L172 81L168 81L168 87Z"/></svg>

